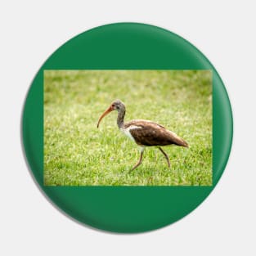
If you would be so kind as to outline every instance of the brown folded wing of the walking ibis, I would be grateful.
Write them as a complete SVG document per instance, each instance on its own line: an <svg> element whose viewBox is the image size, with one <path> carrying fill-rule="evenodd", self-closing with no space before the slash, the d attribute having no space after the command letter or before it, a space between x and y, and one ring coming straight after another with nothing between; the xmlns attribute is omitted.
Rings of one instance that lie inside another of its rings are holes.
<svg viewBox="0 0 256 256"><path fill-rule="evenodd" d="M144 146L188 146L186 141L178 137L174 132L168 131L164 126L147 120L133 120L125 124L130 128L130 133L139 145ZM136 128L137 127L137 128Z"/></svg>

